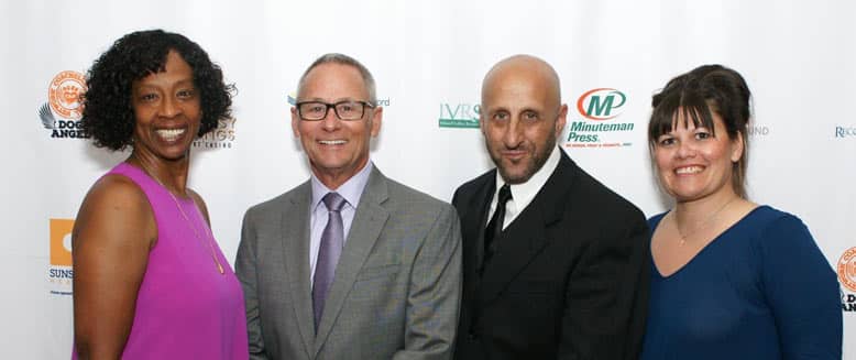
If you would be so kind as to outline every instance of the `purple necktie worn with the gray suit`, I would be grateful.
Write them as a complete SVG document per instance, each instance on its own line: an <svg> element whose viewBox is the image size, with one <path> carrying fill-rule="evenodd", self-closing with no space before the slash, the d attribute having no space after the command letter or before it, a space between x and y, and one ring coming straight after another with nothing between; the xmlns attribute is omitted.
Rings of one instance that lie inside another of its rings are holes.
<svg viewBox="0 0 856 360"><path fill-rule="evenodd" d="M315 313L316 332L318 332L318 325L321 323L327 292L330 291L330 284L333 283L336 264L339 262L339 255L342 254L344 226L340 211L347 203L337 193L327 193L322 200L329 212L327 226L321 232L321 246L318 249L318 261L315 263L315 280L312 281L312 313Z"/></svg>

